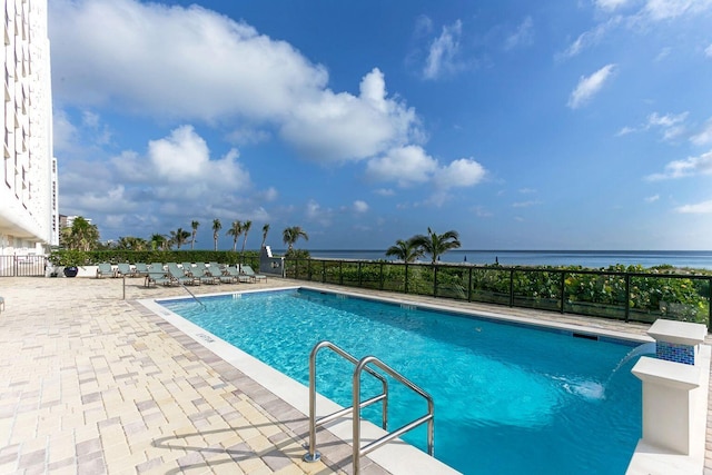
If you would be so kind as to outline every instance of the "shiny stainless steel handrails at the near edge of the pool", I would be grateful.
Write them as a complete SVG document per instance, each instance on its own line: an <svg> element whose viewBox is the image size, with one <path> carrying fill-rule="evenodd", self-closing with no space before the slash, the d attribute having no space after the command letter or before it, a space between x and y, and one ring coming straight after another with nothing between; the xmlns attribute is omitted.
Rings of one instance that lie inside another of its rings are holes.
<svg viewBox="0 0 712 475"><path fill-rule="evenodd" d="M347 359L348 362L356 365L353 375L353 387L352 387L352 402L353 406L346 407L344 409L337 410L336 413L328 414L320 418L316 418L316 356L320 349L327 348L339 355L340 357ZM421 395L427 402L427 414L418 417L417 419L384 435L380 438L377 438L365 446L360 446L360 409L363 407L370 406L372 404L382 403L382 427L384 431L388 431L388 382L386 378L370 368L368 365L375 365L380 368L384 373L388 374L390 377L402 383L406 387L411 388L416 394ZM383 392L374 397L370 397L366 400L360 400L360 375L363 372L368 373L380 382ZM324 425L328 422L337 419L339 417L348 415L352 413L352 422L353 422L353 448L354 448L354 474L357 475L360 469L360 457L375 451L376 448L385 445L386 443L393 441L394 438L405 434L406 432L414 429L421 424L427 423L427 453L432 456L434 452L434 443L433 443L433 422L434 422L434 409L435 405L433 403L433 397L429 394L421 389L418 386L409 382L405 376L397 373L395 369L390 368L388 365L383 363L380 359L375 356L365 356L362 359L356 359L354 356L346 353L344 349L334 345L330 342L320 342L317 343L314 348L312 348L312 353L309 354L309 445L307 447L308 452L301 457L305 462L317 462L322 454L316 451L316 428L317 426Z"/></svg>

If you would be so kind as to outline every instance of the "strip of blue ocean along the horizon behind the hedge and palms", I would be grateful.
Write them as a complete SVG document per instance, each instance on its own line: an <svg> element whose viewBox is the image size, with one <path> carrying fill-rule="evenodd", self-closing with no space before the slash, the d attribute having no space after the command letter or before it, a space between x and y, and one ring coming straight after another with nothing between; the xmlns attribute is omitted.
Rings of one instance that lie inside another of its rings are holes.
<svg viewBox="0 0 712 475"><path fill-rule="evenodd" d="M392 260L385 250L308 249L313 258ZM275 254L284 254L276 249ZM422 260L427 260L427 257ZM645 268L660 265L712 269L712 250L473 250L455 249L441 256L442 263L468 263L503 266L583 266L605 268L616 264L641 265Z"/></svg>

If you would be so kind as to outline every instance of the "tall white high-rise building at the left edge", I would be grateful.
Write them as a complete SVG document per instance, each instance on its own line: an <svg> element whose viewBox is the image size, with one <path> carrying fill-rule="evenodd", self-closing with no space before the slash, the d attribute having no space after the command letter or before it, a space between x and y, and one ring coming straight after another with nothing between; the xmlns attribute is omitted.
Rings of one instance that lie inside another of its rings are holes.
<svg viewBox="0 0 712 475"><path fill-rule="evenodd" d="M59 243L47 0L4 0L0 256Z"/></svg>

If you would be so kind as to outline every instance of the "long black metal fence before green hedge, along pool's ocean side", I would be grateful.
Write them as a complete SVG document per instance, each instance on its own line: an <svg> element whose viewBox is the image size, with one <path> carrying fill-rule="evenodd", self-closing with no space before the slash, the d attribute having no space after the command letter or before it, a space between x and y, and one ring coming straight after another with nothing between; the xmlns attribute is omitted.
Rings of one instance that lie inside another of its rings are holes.
<svg viewBox="0 0 712 475"><path fill-rule="evenodd" d="M696 321L712 331L708 275L286 259L285 277L624 321Z"/></svg>

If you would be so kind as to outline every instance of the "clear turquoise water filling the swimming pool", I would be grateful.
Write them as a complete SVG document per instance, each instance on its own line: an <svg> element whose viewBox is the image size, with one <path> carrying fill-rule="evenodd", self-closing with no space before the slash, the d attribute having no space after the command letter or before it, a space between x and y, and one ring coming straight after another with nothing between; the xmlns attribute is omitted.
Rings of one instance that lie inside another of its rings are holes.
<svg viewBox="0 0 712 475"><path fill-rule="evenodd" d="M641 434L635 358L614 372L633 344L305 289L201 300L161 305L305 385L320 340L380 358L434 397L435 456L465 474L622 474ZM318 392L349 406L353 366L317 366ZM392 428L425 414L390 387ZM425 449L424 427L404 438Z"/></svg>

